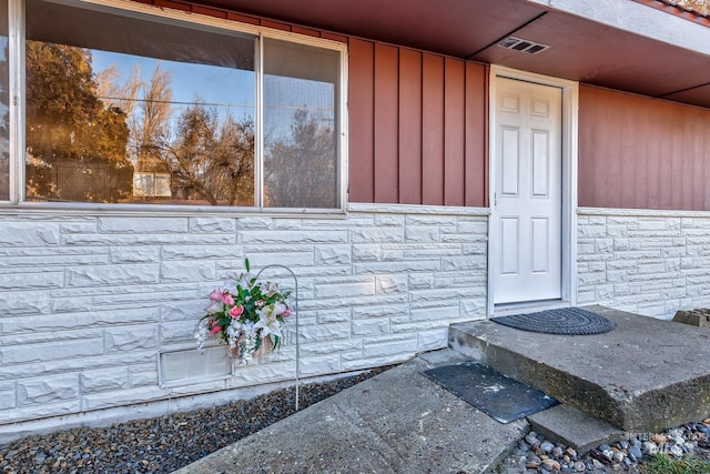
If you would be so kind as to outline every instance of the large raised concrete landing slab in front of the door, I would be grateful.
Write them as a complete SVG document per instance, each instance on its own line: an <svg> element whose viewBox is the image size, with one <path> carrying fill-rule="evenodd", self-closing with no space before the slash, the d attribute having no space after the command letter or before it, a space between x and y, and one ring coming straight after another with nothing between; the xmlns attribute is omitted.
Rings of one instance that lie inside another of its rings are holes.
<svg viewBox="0 0 710 474"><path fill-rule="evenodd" d="M611 332L569 336L491 321L454 324L449 346L630 433L710 415L710 330L604 306Z"/></svg>

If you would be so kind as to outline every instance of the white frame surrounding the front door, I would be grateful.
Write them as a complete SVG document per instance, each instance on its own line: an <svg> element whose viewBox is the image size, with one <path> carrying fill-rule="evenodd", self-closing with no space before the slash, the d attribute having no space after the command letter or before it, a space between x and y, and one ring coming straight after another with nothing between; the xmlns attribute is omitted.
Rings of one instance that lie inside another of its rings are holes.
<svg viewBox="0 0 710 474"><path fill-rule="evenodd" d="M519 81L532 82L541 85L551 85L561 89L562 92L562 269L561 269L561 299L545 301L540 303L520 302L499 305L494 303L495 283L493 275L498 270L498 262L494 258L500 250L499 242L493 240L493 219L496 214L495 196L496 186L496 153L498 144L496 142L497 128L497 78L515 79ZM488 316L494 315L496 310L519 309L526 306L574 306L577 304L577 127L579 105L579 83L566 79L552 78L536 74L532 72L518 71L500 65L490 65L489 88L488 88Z"/></svg>

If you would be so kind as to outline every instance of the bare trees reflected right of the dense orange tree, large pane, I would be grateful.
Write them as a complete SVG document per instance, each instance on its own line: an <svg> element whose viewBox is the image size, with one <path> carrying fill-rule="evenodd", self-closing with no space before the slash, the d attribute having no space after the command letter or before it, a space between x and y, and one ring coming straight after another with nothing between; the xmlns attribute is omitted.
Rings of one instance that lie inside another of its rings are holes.
<svg viewBox="0 0 710 474"><path fill-rule="evenodd" d="M253 120L221 117L199 99L174 117L172 77L160 63L148 82L136 68L123 83L113 68L101 79L105 94L131 112L129 150L136 172L170 177L170 202L253 205Z"/></svg>

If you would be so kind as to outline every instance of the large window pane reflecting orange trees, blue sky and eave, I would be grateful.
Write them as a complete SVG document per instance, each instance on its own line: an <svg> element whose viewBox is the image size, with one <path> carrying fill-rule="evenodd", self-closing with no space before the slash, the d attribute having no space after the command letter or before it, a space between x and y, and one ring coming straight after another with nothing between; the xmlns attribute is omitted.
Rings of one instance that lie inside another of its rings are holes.
<svg viewBox="0 0 710 474"><path fill-rule="evenodd" d="M27 2L27 199L254 204L253 37Z"/></svg>

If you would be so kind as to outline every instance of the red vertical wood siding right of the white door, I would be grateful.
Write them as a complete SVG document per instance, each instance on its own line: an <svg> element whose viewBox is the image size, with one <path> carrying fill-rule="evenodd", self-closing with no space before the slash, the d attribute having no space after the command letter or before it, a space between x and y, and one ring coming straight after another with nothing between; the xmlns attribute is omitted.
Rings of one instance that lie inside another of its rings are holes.
<svg viewBox="0 0 710 474"><path fill-rule="evenodd" d="M710 110L580 85L579 205L710 211Z"/></svg>

